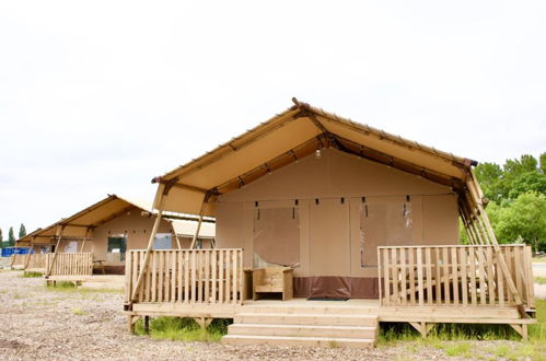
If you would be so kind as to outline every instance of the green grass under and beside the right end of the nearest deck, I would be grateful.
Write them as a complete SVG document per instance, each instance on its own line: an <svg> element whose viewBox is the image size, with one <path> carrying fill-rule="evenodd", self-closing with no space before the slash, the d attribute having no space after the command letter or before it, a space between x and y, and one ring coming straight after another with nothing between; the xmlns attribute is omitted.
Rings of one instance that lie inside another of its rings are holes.
<svg viewBox="0 0 546 361"><path fill-rule="evenodd" d="M508 360L546 360L546 300L536 300L536 325L528 325L528 341L502 343L491 348L481 348L471 341L511 340L521 341L521 337L509 325L437 325L427 338L406 323L383 323L379 346L393 346L406 342L408 353L415 353L422 347L442 349L446 357L487 358Z"/></svg>

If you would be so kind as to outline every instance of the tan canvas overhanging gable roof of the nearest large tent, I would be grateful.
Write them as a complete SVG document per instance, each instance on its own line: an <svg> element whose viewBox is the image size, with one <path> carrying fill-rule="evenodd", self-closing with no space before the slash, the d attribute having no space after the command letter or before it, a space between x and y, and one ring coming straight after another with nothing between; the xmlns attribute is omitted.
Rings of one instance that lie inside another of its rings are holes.
<svg viewBox="0 0 546 361"><path fill-rule="evenodd" d="M293 102L294 106L242 136L153 178L153 183L160 184L154 208L214 216L214 199L219 195L239 189L321 148L336 148L383 163L465 195L475 161L339 117L295 98Z"/></svg>

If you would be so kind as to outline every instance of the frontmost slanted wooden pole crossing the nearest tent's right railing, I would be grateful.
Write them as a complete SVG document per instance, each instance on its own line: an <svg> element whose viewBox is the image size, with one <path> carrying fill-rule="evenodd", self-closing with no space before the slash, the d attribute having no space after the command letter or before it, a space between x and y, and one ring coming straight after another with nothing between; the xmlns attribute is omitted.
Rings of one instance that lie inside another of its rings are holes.
<svg viewBox="0 0 546 361"><path fill-rule="evenodd" d="M504 273L504 277L507 278L507 283L508 287L510 288L510 291L512 292L515 304L518 306L523 305L523 301L521 299L520 292L518 292L518 288L515 287L514 280L512 279L512 275L510 275L510 270L508 269L507 260L504 259L504 255L502 254L499 242L497 241L497 237L495 236L495 232L492 231L491 223L489 222L489 218L487 217L486 209L483 205L481 199L478 198L478 189L479 186L476 183L476 177L474 175L474 172L471 171L469 178L467 180L468 189L471 190L472 196L474 197L474 200L476 201L476 206L478 208L478 214L477 214L477 221L478 224L481 225L485 229L485 236L486 240L488 238L489 244L492 245L495 252L497 253L497 259L499 260L500 268L502 270L502 273ZM521 310L520 310L520 313Z"/></svg>

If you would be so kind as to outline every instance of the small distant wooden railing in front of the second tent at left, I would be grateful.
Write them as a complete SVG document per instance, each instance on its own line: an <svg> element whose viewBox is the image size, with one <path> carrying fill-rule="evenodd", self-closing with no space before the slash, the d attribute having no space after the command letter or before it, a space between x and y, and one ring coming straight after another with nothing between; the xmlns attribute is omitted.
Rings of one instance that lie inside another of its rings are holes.
<svg viewBox="0 0 546 361"><path fill-rule="evenodd" d="M46 271L51 263L53 268L49 276L91 276L93 275L92 253L49 253L46 257Z"/></svg>

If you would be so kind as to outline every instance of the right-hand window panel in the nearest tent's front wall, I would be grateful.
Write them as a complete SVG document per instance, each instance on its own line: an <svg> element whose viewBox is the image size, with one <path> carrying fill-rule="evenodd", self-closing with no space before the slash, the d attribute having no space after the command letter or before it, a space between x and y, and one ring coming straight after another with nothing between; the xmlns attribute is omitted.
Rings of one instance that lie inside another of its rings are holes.
<svg viewBox="0 0 546 361"><path fill-rule="evenodd" d="M374 199L360 203L360 266L377 266L377 246L411 245L411 202Z"/></svg>

